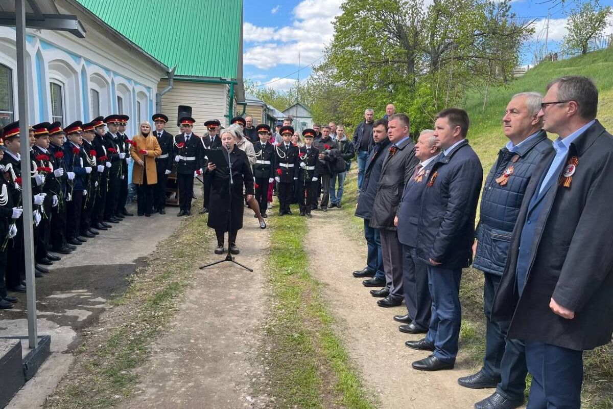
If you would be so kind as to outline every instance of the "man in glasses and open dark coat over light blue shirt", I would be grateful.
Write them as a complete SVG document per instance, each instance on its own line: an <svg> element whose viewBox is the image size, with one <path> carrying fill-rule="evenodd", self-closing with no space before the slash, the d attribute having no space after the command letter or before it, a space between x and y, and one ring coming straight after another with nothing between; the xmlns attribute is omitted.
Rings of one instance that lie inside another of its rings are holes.
<svg viewBox="0 0 613 409"><path fill-rule="evenodd" d="M611 342L613 137L598 90L569 76L547 86L539 117L558 134L528 183L492 308L524 340L528 408L579 408L583 351Z"/></svg>

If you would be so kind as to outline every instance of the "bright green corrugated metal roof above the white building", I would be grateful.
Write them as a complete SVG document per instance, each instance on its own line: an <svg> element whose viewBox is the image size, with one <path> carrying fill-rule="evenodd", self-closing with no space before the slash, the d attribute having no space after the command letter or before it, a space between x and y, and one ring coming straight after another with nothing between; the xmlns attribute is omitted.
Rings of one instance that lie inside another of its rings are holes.
<svg viewBox="0 0 613 409"><path fill-rule="evenodd" d="M77 1L175 75L238 76L243 0Z"/></svg>

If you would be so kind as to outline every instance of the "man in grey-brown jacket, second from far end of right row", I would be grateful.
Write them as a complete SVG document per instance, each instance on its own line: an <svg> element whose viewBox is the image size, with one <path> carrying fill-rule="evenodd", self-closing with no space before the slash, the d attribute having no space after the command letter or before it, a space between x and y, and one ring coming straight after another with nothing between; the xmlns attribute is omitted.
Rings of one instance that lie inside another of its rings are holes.
<svg viewBox="0 0 613 409"><path fill-rule="evenodd" d="M370 226L379 229L381 251L385 266L386 286L373 291L379 307L395 307L402 304L402 244L398 241L394 218L396 210L413 169L419 161L415 157L415 144L409 136L409 117L397 113L390 117L387 124L387 136L392 146L387 150L381 167L381 177L377 184L373 215Z"/></svg>

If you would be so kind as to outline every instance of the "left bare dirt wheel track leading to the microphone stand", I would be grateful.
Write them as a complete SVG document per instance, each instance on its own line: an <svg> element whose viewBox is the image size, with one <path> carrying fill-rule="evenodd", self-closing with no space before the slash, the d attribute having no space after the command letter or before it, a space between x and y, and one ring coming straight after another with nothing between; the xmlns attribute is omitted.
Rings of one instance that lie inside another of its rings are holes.
<svg viewBox="0 0 613 409"><path fill-rule="evenodd" d="M169 330L139 370L137 393L121 408L253 407L251 383L260 369L251 359L265 316L262 267L270 240L248 209L243 223L237 261L254 272L230 262L197 270ZM213 254L213 246L203 249L201 264L224 257Z"/></svg>

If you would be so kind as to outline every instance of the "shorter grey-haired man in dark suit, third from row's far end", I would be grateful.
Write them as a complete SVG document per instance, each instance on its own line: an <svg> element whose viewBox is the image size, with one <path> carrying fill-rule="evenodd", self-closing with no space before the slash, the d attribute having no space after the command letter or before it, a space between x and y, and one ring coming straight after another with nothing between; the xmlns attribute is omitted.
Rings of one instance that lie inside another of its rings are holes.
<svg viewBox="0 0 613 409"><path fill-rule="evenodd" d="M432 298L428 289L428 267L417 257L415 247L422 193L439 154L434 131L422 131L415 144L415 157L419 164L406 182L394 220L398 227L398 241L402 243L402 289L408 312L396 315L394 319L403 323L398 329L406 334L424 334L430 325Z"/></svg>

